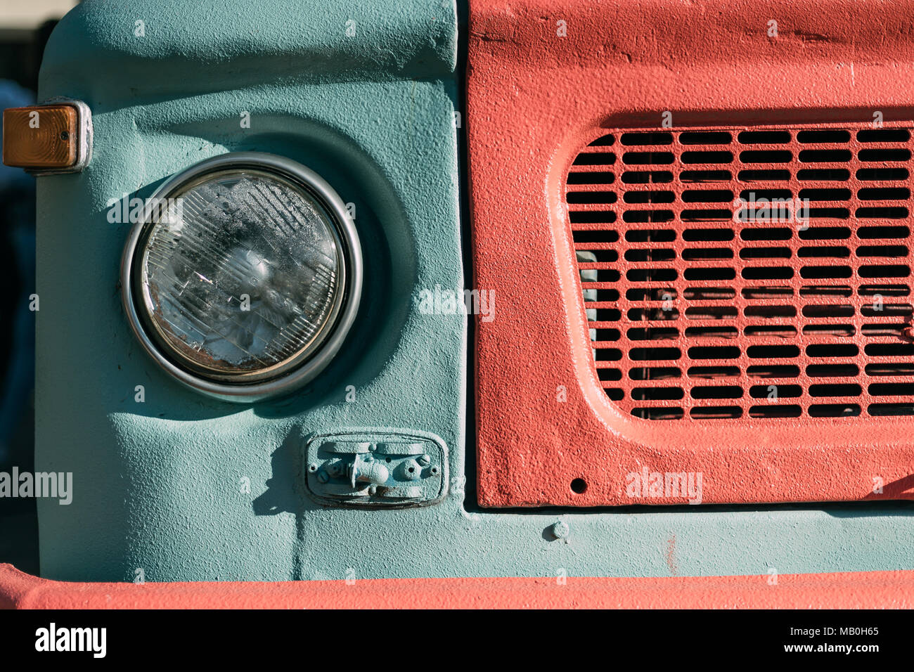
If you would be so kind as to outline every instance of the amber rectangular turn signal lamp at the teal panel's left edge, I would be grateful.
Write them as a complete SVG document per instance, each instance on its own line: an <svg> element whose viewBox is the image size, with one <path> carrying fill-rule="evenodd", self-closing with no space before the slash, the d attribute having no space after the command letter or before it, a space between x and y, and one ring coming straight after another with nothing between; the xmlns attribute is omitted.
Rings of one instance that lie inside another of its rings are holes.
<svg viewBox="0 0 914 672"><path fill-rule="evenodd" d="M3 162L36 172L80 170L88 161L89 111L79 102L3 112Z"/></svg>

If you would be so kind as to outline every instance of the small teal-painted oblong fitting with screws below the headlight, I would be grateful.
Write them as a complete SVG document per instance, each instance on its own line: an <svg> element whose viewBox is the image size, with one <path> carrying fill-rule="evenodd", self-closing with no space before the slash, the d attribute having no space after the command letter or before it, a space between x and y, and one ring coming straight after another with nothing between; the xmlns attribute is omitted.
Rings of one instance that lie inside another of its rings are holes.
<svg viewBox="0 0 914 672"><path fill-rule="evenodd" d="M447 490L447 447L431 434L318 434L304 452L308 489L324 502L415 507Z"/></svg>

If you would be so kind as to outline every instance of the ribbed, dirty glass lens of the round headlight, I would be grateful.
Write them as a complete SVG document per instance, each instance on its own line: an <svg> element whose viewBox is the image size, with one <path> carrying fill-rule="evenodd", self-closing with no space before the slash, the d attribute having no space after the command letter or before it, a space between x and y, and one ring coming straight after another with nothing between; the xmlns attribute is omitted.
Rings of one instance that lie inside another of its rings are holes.
<svg viewBox="0 0 914 672"><path fill-rule="evenodd" d="M139 248L151 335L176 363L228 382L275 378L307 359L343 300L333 216L306 187L253 168L210 173L168 197Z"/></svg>

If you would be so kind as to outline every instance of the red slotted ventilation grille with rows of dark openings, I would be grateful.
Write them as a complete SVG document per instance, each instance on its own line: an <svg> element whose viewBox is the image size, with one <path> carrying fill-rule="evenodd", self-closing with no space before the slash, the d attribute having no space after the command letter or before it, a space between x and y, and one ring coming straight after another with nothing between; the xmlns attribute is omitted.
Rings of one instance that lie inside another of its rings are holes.
<svg viewBox="0 0 914 672"><path fill-rule="evenodd" d="M565 196L609 399L658 421L914 415L910 145L812 126L585 147Z"/></svg>

